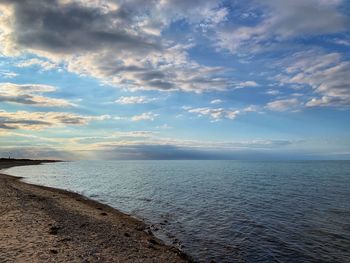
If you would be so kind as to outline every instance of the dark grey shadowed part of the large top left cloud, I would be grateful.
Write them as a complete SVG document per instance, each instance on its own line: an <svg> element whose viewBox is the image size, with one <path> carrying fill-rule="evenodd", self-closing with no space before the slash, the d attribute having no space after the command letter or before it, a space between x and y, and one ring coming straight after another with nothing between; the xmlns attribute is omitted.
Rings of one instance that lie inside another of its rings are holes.
<svg viewBox="0 0 350 263"><path fill-rule="evenodd" d="M57 0L1 2L15 7L14 39L19 46L67 54L104 48L147 52L158 47L149 36L131 33L132 17L125 10L104 12Z"/></svg>

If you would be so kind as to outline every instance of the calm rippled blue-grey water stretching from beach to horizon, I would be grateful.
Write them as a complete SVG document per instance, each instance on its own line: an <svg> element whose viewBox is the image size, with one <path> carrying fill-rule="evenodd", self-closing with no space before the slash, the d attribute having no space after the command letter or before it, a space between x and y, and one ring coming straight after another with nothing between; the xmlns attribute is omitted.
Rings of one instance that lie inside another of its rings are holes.
<svg viewBox="0 0 350 263"><path fill-rule="evenodd" d="M84 161L7 173L144 219L200 262L350 262L349 161Z"/></svg>

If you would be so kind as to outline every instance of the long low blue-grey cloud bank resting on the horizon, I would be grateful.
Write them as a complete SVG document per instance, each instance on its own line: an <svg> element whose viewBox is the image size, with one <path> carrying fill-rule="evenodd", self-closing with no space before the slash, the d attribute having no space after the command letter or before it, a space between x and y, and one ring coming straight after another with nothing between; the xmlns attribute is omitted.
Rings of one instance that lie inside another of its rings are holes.
<svg viewBox="0 0 350 263"><path fill-rule="evenodd" d="M148 141L117 141L95 145L101 159L290 159L280 149L298 145L289 140L252 140L242 142L181 141L157 138ZM294 158L300 154L294 154Z"/></svg>

